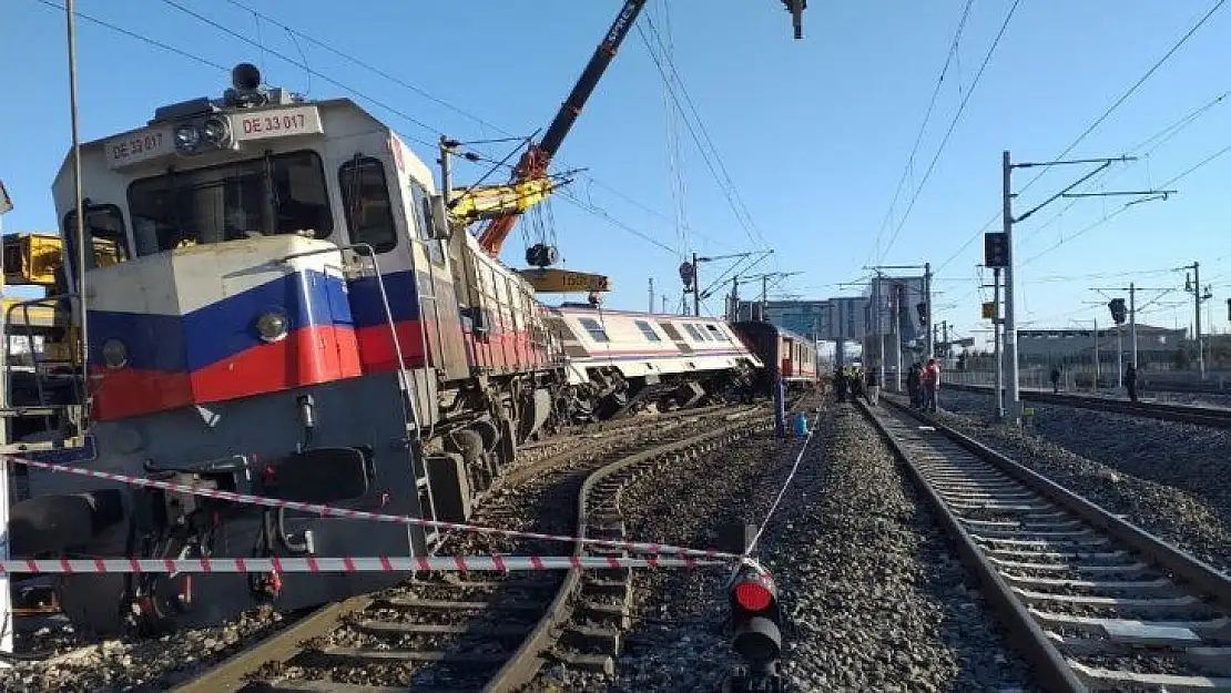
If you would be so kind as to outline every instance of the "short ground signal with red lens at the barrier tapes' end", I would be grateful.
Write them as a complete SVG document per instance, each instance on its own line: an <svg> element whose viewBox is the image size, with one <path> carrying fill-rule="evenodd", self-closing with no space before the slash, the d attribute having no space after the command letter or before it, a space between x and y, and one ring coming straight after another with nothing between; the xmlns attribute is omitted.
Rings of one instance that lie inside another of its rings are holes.
<svg viewBox="0 0 1231 693"><path fill-rule="evenodd" d="M724 683L724 693L780 692L782 608L773 576L755 565L742 565L731 582L731 649L747 663Z"/></svg>

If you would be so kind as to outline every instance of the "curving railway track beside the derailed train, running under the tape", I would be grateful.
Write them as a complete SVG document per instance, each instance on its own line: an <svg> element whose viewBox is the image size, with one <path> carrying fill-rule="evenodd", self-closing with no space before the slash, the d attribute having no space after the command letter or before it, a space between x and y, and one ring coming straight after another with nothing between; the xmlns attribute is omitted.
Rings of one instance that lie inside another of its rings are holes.
<svg viewBox="0 0 1231 693"><path fill-rule="evenodd" d="M730 410L728 410L730 411ZM475 523L620 540L620 492L654 468L772 427L763 409L678 417L607 451L575 449L555 468L528 464L494 490ZM667 438L664 441L664 438ZM527 522L527 508L534 522ZM560 555L566 544L491 535L447 537L439 553ZM575 544L572 555L625 555ZM419 574L379 593L329 604L181 692L513 691L548 662L611 672L628 627L623 569L512 576Z"/></svg>

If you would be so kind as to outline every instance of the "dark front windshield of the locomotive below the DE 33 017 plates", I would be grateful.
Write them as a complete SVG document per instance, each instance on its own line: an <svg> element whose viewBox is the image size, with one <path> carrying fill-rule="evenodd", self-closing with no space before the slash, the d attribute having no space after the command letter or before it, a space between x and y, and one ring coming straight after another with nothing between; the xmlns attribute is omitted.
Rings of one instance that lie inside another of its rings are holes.
<svg viewBox="0 0 1231 693"><path fill-rule="evenodd" d="M334 230L325 171L313 151L270 154L192 171L170 171L128 187L137 255L252 235Z"/></svg>

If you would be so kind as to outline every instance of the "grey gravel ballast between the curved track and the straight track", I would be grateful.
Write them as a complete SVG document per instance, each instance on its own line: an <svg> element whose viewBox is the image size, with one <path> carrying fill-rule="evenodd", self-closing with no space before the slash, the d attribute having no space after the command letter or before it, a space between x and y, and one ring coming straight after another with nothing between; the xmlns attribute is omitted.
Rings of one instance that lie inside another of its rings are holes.
<svg viewBox="0 0 1231 693"><path fill-rule="evenodd" d="M644 507L630 535L696 545L728 519L760 521L799 448L740 447L723 457L721 483L712 460L633 490L628 500ZM1030 689L1027 663L1007 647L977 585L848 405L822 415L758 547L789 614L782 671L793 689ZM726 576L639 576L639 620L616 681L560 667L545 678L570 691L715 691L736 661L721 633Z"/></svg>

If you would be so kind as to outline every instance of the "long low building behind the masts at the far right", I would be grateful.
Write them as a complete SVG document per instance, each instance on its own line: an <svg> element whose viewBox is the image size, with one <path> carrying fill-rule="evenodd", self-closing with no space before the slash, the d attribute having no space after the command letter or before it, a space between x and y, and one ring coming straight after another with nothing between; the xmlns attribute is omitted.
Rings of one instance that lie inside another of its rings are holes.
<svg viewBox="0 0 1231 693"><path fill-rule="evenodd" d="M1187 330L1137 325L1137 363L1151 368L1169 368L1187 337ZM1101 364L1115 368L1117 345L1124 352L1124 363L1129 363L1133 345L1128 325L1119 330L1099 330L1097 338ZM1017 353L1022 366L1091 364L1094 340L1093 330L1018 330Z"/></svg>

